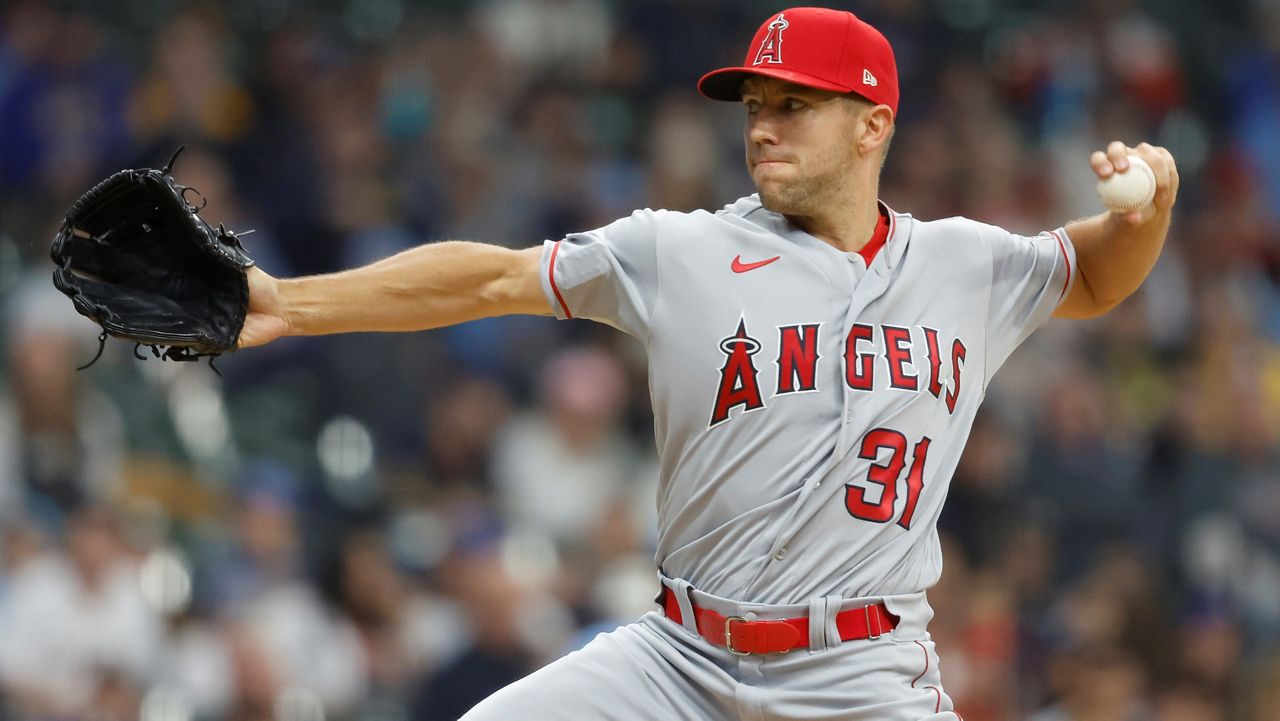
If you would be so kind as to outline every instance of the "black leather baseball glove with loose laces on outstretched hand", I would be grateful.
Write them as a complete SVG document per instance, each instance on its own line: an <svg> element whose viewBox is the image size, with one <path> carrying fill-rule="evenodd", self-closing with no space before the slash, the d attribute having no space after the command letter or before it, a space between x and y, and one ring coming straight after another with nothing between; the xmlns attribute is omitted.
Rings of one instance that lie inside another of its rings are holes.
<svg viewBox="0 0 1280 721"><path fill-rule="evenodd" d="M120 170L72 206L50 255L54 286L108 334L165 360L193 361L236 350L248 310L253 260L236 233L211 227L187 202L192 188L169 172ZM204 200L204 198L201 198ZM87 368L82 366L82 368Z"/></svg>

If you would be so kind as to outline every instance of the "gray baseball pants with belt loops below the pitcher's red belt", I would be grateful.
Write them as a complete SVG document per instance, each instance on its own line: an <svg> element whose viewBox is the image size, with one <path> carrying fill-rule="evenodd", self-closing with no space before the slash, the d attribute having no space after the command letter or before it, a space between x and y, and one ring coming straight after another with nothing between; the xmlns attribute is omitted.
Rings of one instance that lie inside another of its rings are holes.
<svg viewBox="0 0 1280 721"><path fill-rule="evenodd" d="M760 612L765 607L698 592L694 598L736 616L797 612L797 607ZM833 617L841 607L832 603L827 613L812 608L818 613L810 617ZM904 617L879 639L833 643L822 638L820 624L810 626L808 649L735 656L650 612L499 690L462 721L960 720L942 690L938 657L923 622Z"/></svg>

